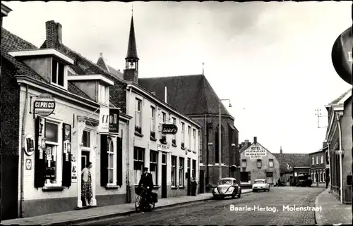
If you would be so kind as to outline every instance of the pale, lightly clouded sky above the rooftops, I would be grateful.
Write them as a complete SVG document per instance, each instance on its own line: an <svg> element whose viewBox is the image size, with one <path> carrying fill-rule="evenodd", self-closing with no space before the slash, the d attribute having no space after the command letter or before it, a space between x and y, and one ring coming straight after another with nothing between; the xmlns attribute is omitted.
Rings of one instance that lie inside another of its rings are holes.
<svg viewBox="0 0 353 226"><path fill-rule="evenodd" d="M3 3L13 34L39 47L55 20L66 46L93 62L102 52L121 70L133 8L139 77L201 74L204 62L217 95L231 99L239 142L257 137L273 153L321 149L324 106L351 87L331 61L335 39L352 25L350 1Z"/></svg>

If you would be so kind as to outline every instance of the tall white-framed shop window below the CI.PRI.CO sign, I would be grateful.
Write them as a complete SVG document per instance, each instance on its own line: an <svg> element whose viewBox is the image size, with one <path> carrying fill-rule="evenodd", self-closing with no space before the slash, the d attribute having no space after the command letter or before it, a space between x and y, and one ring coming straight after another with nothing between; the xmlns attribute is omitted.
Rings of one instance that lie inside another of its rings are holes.
<svg viewBox="0 0 353 226"><path fill-rule="evenodd" d="M62 123L48 120L45 123L45 164L50 179L45 180L45 186L61 186L62 180L62 151L61 151Z"/></svg>

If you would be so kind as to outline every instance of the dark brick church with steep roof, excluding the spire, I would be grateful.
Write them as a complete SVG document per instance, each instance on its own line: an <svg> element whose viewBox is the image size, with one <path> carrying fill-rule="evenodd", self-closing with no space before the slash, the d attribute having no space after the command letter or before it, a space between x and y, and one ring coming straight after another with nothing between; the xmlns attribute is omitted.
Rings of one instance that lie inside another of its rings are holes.
<svg viewBox="0 0 353 226"><path fill-rule="evenodd" d="M201 180L198 183L201 193L204 192L205 187L213 187L217 184L220 163L222 177L235 177L240 180L239 131L234 127L234 118L223 103L220 103L222 101L205 75L144 77L140 78L138 83L201 125L199 155ZM219 113L221 113L221 123ZM218 150L218 131L222 134L221 150ZM230 170L232 165L236 165L238 170Z"/></svg>

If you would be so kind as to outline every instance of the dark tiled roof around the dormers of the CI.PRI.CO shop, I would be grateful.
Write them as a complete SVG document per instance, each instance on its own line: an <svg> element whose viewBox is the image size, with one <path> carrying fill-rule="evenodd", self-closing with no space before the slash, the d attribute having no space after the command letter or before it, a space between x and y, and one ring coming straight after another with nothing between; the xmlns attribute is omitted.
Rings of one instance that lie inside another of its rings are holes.
<svg viewBox="0 0 353 226"><path fill-rule="evenodd" d="M32 77L35 80L39 80L40 82L49 83L47 80L40 75L38 75L32 68L30 68L25 63L18 61L16 58L8 54L8 51L24 51L24 50L32 50L39 49L34 44L21 39L16 34L12 34L4 27L1 27L1 57L4 57L7 61L6 63L11 63L14 68L16 68L16 72L18 75L26 75L28 77ZM10 75L11 76L11 75ZM85 94L82 90L80 90L76 85L68 82L68 92L72 94L76 94L85 99L90 99L90 97Z"/></svg>

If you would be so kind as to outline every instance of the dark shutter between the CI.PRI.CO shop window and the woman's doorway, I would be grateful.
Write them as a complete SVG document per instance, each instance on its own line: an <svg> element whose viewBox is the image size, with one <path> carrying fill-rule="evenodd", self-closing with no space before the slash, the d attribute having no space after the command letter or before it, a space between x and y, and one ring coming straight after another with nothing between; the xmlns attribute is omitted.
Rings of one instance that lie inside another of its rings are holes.
<svg viewBox="0 0 353 226"><path fill-rule="evenodd" d="M63 123L63 182L62 186L71 186L71 125Z"/></svg>

